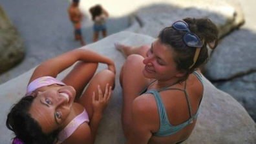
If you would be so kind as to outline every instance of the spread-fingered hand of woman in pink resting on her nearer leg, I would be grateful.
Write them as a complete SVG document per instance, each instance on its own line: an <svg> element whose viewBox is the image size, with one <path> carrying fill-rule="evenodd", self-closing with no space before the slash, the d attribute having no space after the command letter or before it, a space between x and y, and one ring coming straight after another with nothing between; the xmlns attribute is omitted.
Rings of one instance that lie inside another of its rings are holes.
<svg viewBox="0 0 256 144"><path fill-rule="evenodd" d="M102 94L100 85L98 85L98 100L96 100L95 92L93 92L93 95L92 95L92 108L93 108L94 114L100 114L100 115L103 114L105 108L107 107L107 104L109 103L111 94L112 94L112 87L109 87L108 83L106 85L104 94Z"/></svg>

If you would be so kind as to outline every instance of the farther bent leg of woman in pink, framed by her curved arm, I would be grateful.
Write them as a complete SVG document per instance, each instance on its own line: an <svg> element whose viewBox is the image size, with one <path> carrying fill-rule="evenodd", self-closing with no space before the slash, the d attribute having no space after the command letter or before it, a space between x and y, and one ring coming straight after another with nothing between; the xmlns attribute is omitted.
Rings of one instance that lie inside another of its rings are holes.
<svg viewBox="0 0 256 144"><path fill-rule="evenodd" d="M66 85L70 85L76 90L75 102L80 99L83 89L87 86L91 78L94 76L98 63L79 62L62 80Z"/></svg>

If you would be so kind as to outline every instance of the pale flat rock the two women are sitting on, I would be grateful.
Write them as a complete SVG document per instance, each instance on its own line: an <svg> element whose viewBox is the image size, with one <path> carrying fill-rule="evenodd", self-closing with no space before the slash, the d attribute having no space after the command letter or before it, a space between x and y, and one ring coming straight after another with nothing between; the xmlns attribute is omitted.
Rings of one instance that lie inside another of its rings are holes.
<svg viewBox="0 0 256 144"><path fill-rule="evenodd" d="M114 43L150 45L154 40L153 37L149 36L131 32L120 32L97 43L83 47L109 56L116 62L116 88L103 116L96 143L125 143L121 124L122 88L118 81L120 68L125 59L114 48ZM100 65L99 69L103 68L107 68L107 66ZM11 105L16 103L25 94L28 79L33 70L34 68L0 85L0 139L2 143L10 143L12 138L10 130L7 130L5 127L6 114L10 110ZM63 78L69 71L70 68L59 74L58 79ZM186 143L256 143L256 126L246 110L229 94L211 85L206 78L204 78L204 84L202 110L199 114L195 131Z"/></svg>

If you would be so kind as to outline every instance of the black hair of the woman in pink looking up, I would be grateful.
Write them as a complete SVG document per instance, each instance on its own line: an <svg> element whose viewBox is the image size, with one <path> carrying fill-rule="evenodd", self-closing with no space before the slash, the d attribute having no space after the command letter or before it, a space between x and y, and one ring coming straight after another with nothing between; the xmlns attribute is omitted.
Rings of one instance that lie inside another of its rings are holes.
<svg viewBox="0 0 256 144"><path fill-rule="evenodd" d="M33 119L28 110L35 96L25 96L12 107L6 119L6 127L16 134L25 144L49 144L56 142L59 130L43 134L39 123Z"/></svg>

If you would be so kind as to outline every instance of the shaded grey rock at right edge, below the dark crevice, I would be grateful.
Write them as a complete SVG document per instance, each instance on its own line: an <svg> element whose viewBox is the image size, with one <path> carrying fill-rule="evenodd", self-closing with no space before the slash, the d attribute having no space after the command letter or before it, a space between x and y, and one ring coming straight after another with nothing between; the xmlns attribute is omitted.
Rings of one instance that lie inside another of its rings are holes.
<svg viewBox="0 0 256 144"><path fill-rule="evenodd" d="M216 82L214 85L237 99L256 121L256 72L230 81Z"/></svg>

